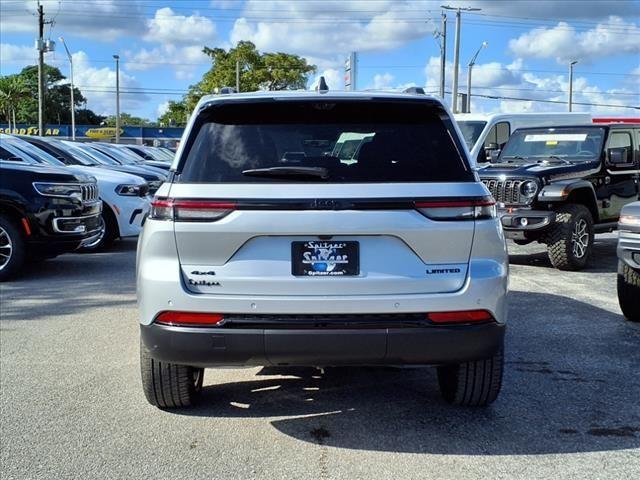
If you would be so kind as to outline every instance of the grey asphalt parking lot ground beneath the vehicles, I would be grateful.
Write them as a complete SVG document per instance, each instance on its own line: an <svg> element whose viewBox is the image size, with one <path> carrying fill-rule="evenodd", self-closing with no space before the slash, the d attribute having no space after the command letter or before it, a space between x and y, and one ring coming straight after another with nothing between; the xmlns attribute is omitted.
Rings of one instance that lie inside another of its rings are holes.
<svg viewBox="0 0 640 480"><path fill-rule="evenodd" d="M640 325L615 294L616 234L579 273L510 244L505 383L445 405L431 369L208 370L164 412L138 370L135 241L0 286L1 476L637 478Z"/></svg>

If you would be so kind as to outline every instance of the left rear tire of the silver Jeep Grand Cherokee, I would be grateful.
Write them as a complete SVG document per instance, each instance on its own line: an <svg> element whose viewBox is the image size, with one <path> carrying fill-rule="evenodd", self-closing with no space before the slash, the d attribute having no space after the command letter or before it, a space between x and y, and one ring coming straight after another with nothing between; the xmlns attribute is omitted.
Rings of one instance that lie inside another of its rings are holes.
<svg viewBox="0 0 640 480"><path fill-rule="evenodd" d="M202 392L204 368L161 362L140 341L140 373L147 401L158 408L189 407Z"/></svg>

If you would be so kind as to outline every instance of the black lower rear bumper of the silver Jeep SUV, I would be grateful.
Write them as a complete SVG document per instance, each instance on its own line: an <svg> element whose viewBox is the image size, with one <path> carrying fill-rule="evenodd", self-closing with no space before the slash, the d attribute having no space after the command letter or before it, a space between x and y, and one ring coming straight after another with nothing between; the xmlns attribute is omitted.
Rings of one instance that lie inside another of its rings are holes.
<svg viewBox="0 0 640 480"><path fill-rule="evenodd" d="M505 326L262 329L141 325L157 360L216 366L443 365L494 355Z"/></svg>

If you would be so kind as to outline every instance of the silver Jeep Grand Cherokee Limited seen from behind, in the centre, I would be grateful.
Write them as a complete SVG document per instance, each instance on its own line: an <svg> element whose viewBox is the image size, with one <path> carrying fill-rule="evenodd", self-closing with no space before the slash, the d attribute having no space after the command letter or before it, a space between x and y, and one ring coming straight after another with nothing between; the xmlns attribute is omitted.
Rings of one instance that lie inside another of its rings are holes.
<svg viewBox="0 0 640 480"><path fill-rule="evenodd" d="M507 253L451 114L417 94L204 97L138 246L147 400L204 368L434 365L500 390Z"/></svg>

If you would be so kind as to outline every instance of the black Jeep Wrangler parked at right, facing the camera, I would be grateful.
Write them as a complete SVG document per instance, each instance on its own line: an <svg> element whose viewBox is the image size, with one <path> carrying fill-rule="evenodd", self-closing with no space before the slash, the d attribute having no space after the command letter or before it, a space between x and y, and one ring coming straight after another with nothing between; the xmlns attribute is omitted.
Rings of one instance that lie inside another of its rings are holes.
<svg viewBox="0 0 640 480"><path fill-rule="evenodd" d="M639 198L640 124L526 128L479 168L507 238L545 243L560 270L585 267L595 233Z"/></svg>

